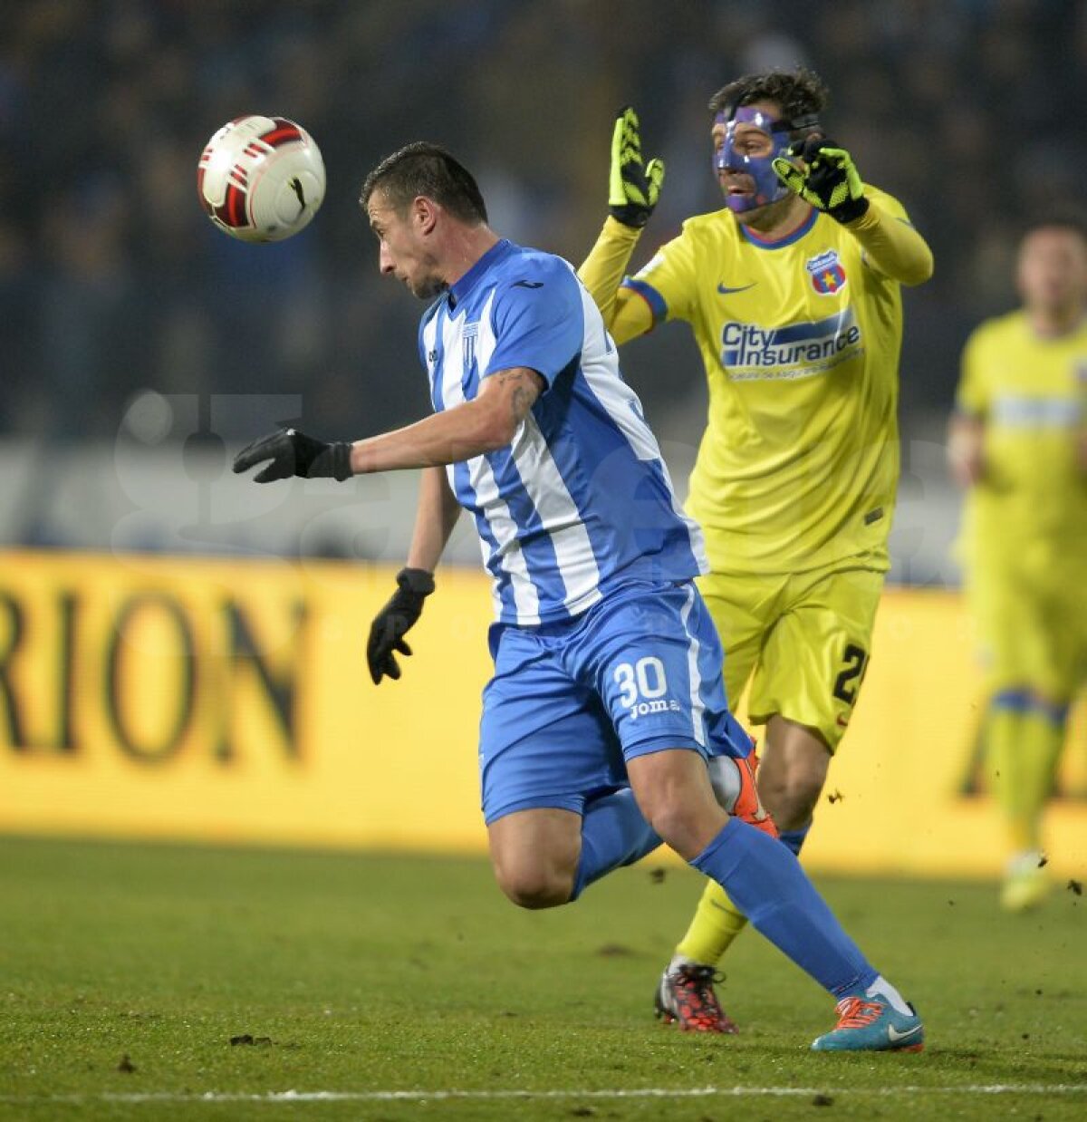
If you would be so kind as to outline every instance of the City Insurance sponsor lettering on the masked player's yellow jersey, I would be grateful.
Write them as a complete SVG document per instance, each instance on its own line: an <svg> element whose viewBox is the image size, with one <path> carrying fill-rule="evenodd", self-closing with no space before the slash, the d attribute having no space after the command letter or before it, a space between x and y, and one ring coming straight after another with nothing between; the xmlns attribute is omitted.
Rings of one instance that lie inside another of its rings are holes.
<svg viewBox="0 0 1087 1122"><path fill-rule="evenodd" d="M729 322L721 329L721 365L737 380L810 377L850 358L859 348L860 328L851 307L825 320L783 328Z"/></svg>

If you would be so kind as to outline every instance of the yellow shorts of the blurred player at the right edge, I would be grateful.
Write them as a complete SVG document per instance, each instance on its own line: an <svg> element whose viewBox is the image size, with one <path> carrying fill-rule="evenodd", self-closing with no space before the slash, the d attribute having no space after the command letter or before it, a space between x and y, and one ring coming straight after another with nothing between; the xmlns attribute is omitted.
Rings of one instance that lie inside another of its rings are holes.
<svg viewBox="0 0 1087 1122"><path fill-rule="evenodd" d="M1070 700L1087 680L1084 580L987 568L968 570L966 592L989 691L1025 686Z"/></svg>

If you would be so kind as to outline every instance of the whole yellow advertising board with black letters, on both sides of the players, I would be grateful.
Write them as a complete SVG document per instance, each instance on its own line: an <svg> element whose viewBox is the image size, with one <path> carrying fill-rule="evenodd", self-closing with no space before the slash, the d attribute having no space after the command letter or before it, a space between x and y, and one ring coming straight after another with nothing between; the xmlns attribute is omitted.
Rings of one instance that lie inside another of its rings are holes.
<svg viewBox="0 0 1087 1122"><path fill-rule="evenodd" d="M394 572L0 555L0 829L482 850L488 582L443 570L404 677L375 688L366 636ZM805 863L996 873L982 710L959 599L888 591ZM1049 815L1069 875L1087 868L1085 757L1080 723Z"/></svg>

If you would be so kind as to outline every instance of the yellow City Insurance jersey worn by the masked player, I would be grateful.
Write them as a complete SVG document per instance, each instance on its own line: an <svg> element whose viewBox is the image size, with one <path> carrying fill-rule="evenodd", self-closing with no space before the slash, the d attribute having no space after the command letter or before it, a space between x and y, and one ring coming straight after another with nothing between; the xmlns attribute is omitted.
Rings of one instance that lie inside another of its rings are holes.
<svg viewBox="0 0 1087 1122"><path fill-rule="evenodd" d="M891 221L891 195L865 193ZM900 284L812 210L762 241L728 210L689 219L624 285L691 324L709 416L688 509L711 567L799 572L863 557L886 570L899 480Z"/></svg>

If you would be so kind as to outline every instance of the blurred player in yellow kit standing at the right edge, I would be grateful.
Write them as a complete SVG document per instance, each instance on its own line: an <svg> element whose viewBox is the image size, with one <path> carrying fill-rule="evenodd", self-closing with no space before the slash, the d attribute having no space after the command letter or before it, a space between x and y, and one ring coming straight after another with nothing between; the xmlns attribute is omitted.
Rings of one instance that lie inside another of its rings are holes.
<svg viewBox="0 0 1087 1122"><path fill-rule="evenodd" d="M968 489L966 587L989 693L987 770L1007 825L1002 902L1049 890L1041 820L1087 675L1087 229L1043 221L1019 250L1022 307L962 355L948 459Z"/></svg>

